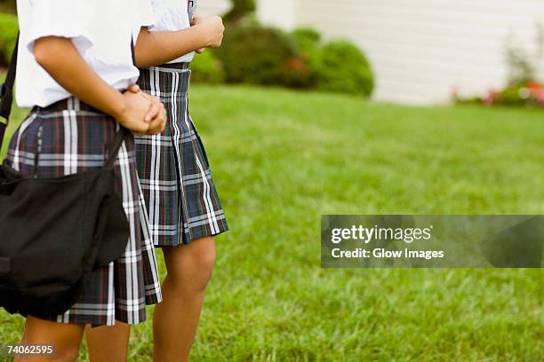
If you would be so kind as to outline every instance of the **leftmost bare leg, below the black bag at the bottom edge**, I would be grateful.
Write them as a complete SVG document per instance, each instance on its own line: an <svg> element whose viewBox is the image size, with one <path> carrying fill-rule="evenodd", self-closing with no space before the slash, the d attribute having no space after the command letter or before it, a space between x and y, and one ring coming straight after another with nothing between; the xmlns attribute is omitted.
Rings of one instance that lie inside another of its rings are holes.
<svg viewBox="0 0 544 362"><path fill-rule="evenodd" d="M28 316L22 342L28 345L52 345L56 356L21 356L15 362L58 361L72 362L79 353L79 344L84 333L84 325L62 324Z"/></svg>

